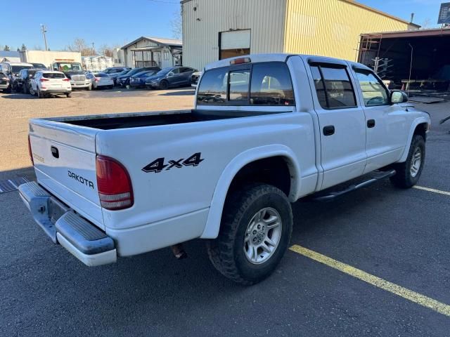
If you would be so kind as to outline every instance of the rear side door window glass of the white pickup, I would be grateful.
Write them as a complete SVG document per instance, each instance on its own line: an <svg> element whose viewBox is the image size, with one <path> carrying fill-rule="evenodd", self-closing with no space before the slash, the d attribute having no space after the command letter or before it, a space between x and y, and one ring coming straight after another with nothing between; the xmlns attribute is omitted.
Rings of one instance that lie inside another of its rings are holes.
<svg viewBox="0 0 450 337"><path fill-rule="evenodd" d="M318 65L311 67L311 73L321 107L325 109L356 107L352 82L345 67Z"/></svg>

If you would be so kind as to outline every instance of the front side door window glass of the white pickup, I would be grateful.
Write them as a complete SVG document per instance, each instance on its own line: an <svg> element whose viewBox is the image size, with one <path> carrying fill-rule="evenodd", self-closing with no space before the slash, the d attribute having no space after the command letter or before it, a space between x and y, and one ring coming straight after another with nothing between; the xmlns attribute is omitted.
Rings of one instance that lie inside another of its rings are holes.
<svg viewBox="0 0 450 337"><path fill-rule="evenodd" d="M355 69L356 78L363 93L364 105L388 105L389 94L383 82L370 70Z"/></svg>

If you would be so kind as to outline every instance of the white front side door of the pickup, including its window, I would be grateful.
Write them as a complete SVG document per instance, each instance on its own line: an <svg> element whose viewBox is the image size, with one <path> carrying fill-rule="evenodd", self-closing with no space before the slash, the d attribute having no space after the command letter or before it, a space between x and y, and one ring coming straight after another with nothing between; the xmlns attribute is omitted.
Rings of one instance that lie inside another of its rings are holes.
<svg viewBox="0 0 450 337"><path fill-rule="evenodd" d="M390 92L374 72L358 67L353 70L366 115L366 173L400 159L410 124L405 109L390 104Z"/></svg>

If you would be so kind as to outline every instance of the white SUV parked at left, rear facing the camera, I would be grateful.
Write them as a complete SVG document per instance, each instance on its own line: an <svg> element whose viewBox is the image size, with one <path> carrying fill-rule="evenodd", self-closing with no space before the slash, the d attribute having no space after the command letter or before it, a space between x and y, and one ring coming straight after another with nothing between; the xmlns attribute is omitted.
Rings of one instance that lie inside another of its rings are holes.
<svg viewBox="0 0 450 337"><path fill-rule="evenodd" d="M53 95L72 95L70 79L63 72L39 70L31 80L30 93L38 98Z"/></svg>

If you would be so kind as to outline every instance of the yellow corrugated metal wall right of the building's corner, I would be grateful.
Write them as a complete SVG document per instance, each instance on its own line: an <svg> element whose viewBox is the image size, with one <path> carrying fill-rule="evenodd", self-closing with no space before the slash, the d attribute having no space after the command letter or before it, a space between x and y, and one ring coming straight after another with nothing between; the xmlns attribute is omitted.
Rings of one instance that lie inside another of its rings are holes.
<svg viewBox="0 0 450 337"><path fill-rule="evenodd" d="M342 0L287 0L285 53L357 60L359 35L406 30L394 20Z"/></svg>

